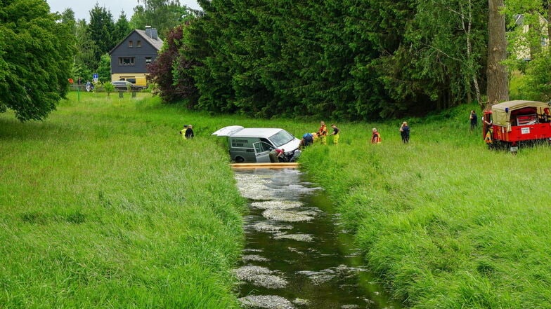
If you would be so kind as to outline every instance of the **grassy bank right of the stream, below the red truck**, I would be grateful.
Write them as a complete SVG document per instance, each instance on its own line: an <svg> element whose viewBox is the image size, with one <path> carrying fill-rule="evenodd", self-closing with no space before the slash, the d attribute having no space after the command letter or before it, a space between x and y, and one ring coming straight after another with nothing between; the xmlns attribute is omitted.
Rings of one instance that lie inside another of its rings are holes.
<svg viewBox="0 0 551 309"><path fill-rule="evenodd" d="M488 151L461 107L304 151L368 265L412 308L551 308L548 147Z"/></svg>

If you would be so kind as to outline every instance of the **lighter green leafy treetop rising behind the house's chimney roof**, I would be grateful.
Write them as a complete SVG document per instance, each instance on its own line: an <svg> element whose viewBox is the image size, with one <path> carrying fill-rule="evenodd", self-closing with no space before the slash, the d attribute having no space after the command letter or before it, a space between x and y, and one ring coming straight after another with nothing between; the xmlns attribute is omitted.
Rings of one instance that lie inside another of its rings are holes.
<svg viewBox="0 0 551 309"><path fill-rule="evenodd" d="M170 29L180 25L190 15L193 14L179 0L138 0L130 21L136 29L145 29L145 26L157 28L164 38Z"/></svg>

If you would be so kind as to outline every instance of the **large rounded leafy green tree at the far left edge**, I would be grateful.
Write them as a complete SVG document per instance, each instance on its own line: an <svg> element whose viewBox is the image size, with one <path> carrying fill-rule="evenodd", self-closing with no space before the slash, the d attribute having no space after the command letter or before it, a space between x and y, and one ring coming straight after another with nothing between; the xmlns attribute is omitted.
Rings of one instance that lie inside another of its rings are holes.
<svg viewBox="0 0 551 309"><path fill-rule="evenodd" d="M67 88L74 55L70 23L46 1L0 1L0 111L42 120Z"/></svg>

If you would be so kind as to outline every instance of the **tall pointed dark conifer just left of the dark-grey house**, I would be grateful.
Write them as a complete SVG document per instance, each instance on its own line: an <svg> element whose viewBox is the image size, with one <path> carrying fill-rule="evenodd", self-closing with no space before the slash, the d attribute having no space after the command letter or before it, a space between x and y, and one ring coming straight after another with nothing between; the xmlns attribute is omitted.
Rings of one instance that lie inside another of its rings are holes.
<svg viewBox="0 0 551 309"><path fill-rule="evenodd" d="M96 62L100 60L101 55L109 53L118 43L111 12L105 7L99 6L98 3L90 11L90 23L87 31L97 47L94 50Z"/></svg>

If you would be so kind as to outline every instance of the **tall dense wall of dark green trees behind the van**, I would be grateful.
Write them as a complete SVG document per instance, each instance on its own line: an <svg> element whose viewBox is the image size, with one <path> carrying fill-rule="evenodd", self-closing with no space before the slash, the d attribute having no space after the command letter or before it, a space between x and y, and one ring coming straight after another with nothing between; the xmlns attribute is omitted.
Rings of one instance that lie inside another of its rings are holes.
<svg viewBox="0 0 551 309"><path fill-rule="evenodd" d="M199 107L370 119L480 101L486 0L200 0Z"/></svg>

